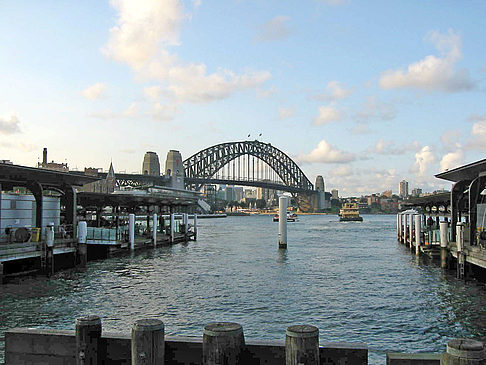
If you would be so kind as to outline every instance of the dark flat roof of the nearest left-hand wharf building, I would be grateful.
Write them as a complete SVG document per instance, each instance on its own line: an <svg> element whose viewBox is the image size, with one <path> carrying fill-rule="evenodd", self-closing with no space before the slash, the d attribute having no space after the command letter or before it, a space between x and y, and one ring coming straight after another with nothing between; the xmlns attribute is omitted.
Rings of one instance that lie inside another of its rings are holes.
<svg viewBox="0 0 486 365"><path fill-rule="evenodd" d="M44 186L61 187L63 185L82 186L97 180L99 178L94 176L0 163L2 184L22 186L29 181L34 181Z"/></svg>

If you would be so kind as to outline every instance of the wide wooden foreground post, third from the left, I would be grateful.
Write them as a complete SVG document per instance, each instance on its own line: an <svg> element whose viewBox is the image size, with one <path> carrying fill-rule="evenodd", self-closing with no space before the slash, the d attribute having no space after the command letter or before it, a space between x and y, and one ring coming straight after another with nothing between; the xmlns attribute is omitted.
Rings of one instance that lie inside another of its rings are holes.
<svg viewBox="0 0 486 365"><path fill-rule="evenodd" d="M203 365L242 364L245 337L238 323L214 322L204 327Z"/></svg>

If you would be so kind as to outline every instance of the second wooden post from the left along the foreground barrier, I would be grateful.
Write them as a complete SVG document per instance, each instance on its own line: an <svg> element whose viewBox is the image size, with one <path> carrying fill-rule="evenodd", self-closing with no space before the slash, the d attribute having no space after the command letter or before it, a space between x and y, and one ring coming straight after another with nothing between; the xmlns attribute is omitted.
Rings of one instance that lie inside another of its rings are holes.
<svg viewBox="0 0 486 365"><path fill-rule="evenodd" d="M158 319L140 319L132 327L132 365L163 365L165 353L164 323Z"/></svg>

